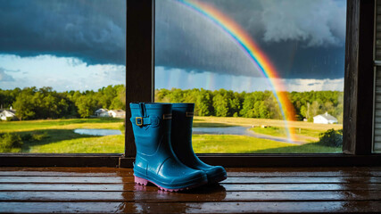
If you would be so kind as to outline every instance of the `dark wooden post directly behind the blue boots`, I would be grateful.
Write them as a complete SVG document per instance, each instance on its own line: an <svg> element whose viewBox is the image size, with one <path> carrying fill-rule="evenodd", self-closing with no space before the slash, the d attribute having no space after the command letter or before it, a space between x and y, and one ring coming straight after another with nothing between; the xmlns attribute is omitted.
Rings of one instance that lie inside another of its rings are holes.
<svg viewBox="0 0 381 214"><path fill-rule="evenodd" d="M152 0L127 1L127 75L126 75L126 147L128 157L135 157L136 147L129 103L153 102L154 3Z"/></svg>

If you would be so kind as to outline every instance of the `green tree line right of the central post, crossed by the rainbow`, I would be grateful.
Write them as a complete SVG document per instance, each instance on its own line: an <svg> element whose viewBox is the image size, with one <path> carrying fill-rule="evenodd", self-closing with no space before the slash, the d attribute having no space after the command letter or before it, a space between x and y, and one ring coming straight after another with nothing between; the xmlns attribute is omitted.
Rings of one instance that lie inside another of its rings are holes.
<svg viewBox="0 0 381 214"><path fill-rule="evenodd" d="M339 91L282 92L294 105L295 119L313 120L328 112L339 123L343 122L344 93ZM216 117L244 117L283 119L277 99L271 91L233 92L203 88L155 90L155 102L195 103L195 115Z"/></svg>

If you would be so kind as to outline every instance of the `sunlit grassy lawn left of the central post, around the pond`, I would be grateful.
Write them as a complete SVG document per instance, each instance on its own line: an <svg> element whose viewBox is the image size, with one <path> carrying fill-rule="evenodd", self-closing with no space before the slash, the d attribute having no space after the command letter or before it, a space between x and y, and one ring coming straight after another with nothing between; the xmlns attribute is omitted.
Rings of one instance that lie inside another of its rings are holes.
<svg viewBox="0 0 381 214"><path fill-rule="evenodd" d="M76 128L120 129L122 136L87 136L74 133ZM123 119L49 119L0 122L0 133L44 135L43 139L24 142L21 152L122 153Z"/></svg>

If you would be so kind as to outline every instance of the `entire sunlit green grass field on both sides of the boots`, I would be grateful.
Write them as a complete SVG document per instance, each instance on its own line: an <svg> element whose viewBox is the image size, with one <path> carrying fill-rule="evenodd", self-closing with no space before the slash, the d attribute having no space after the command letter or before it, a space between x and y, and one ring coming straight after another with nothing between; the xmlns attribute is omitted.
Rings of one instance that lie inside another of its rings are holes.
<svg viewBox="0 0 381 214"><path fill-rule="evenodd" d="M293 122L294 123L294 122ZM228 127L238 124L270 124L271 128L254 128L254 131L269 136L285 136L282 124L273 119L237 119L195 117L195 127ZM295 128L301 128L297 135L316 138L328 128L340 128L339 125L313 126L311 123L295 122ZM277 126L274 126L277 125ZM302 127L302 125L304 127ZM44 135L43 139L24 142L21 152L49 153L122 153L124 152L124 130L122 136L86 136L73 132L76 128L123 129L123 119L49 119L30 121L0 122L0 133L17 133L19 135ZM298 129L297 129L298 130ZM306 141L309 142L309 141ZM311 153L341 152L341 148L321 146L316 143L287 144L251 136L229 135L194 135L195 152L231 152L231 153Z"/></svg>

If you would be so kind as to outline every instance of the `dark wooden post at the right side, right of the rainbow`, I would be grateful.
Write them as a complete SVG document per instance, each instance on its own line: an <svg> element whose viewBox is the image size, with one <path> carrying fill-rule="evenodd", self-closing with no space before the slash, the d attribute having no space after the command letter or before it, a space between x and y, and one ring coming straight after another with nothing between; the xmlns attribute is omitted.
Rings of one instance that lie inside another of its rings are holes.
<svg viewBox="0 0 381 214"><path fill-rule="evenodd" d="M375 1L347 1L344 144L348 154L369 154L373 120Z"/></svg>

